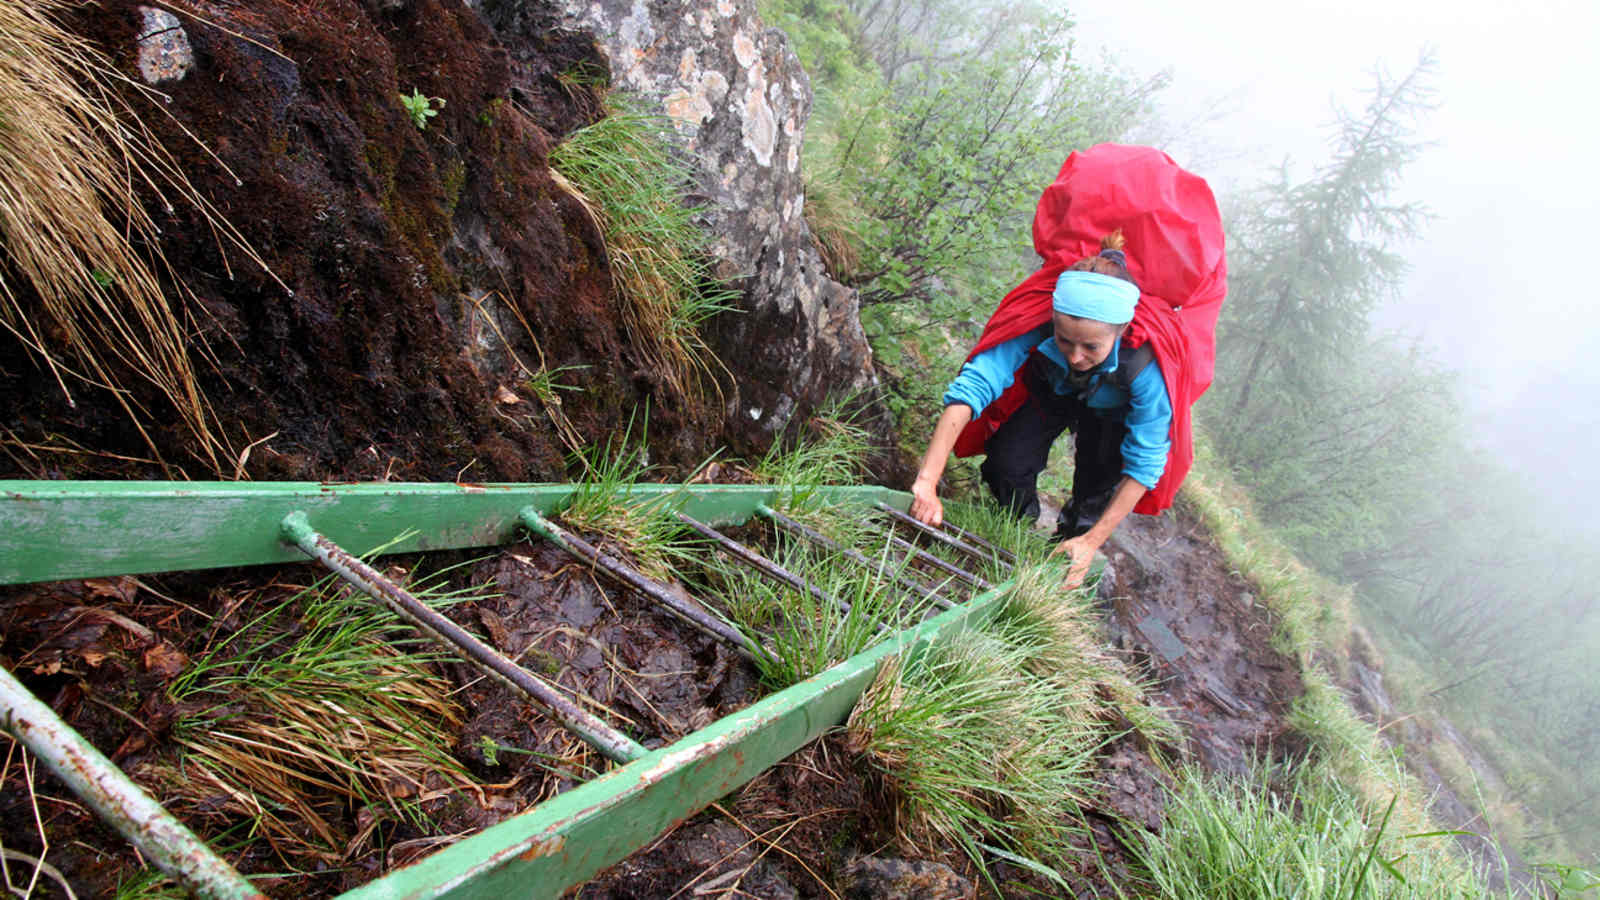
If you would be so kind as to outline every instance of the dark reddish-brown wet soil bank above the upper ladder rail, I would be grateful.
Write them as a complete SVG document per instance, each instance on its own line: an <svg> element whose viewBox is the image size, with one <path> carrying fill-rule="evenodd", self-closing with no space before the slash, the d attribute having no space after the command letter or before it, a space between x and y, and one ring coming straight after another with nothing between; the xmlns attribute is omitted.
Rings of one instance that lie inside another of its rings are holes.
<svg viewBox="0 0 1600 900"><path fill-rule="evenodd" d="M723 413L667 389L634 346L594 216L547 167L602 114L592 35L506 46L443 0L170 6L192 70L160 94L123 90L128 114L266 263L134 179L218 447L115 360L126 400L80 381L69 399L5 331L0 476L563 480L587 436L646 407L658 464L688 471L722 445ZM99 0L66 24L136 78L139 10ZM411 91L437 98L426 128L398 99ZM6 283L22 309L42 303ZM528 389L563 367L581 391ZM146 410L147 439L123 402Z"/></svg>

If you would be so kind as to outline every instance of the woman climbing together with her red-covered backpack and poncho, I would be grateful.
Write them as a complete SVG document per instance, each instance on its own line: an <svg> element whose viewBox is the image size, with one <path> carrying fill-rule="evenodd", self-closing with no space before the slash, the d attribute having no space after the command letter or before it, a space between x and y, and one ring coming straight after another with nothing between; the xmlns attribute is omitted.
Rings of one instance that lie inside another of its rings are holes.
<svg viewBox="0 0 1600 900"><path fill-rule="evenodd" d="M1000 299L950 384L912 514L944 519L938 484L954 448L987 453L989 490L1037 516L1035 479L1069 428L1077 471L1056 548L1072 559L1067 586L1130 511L1171 506L1194 461L1190 407L1211 386L1224 243L1211 187L1162 151L1070 154L1034 213L1040 267Z"/></svg>

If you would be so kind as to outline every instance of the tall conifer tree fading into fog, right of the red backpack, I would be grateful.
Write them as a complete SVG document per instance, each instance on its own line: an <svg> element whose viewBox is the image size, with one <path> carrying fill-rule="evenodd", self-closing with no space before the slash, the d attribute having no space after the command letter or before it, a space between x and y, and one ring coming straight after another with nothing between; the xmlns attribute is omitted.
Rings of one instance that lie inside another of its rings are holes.
<svg viewBox="0 0 1600 900"><path fill-rule="evenodd" d="M1406 269L1394 242L1426 216L1392 194L1426 146L1414 123L1432 107L1432 69L1424 53L1400 80L1379 72L1362 114L1338 114L1331 160L1301 183L1280 170L1230 234L1203 421L1269 517L1330 570L1382 549L1360 535L1394 524L1453 437L1448 373L1368 325ZM1314 546L1331 535L1342 540Z"/></svg>

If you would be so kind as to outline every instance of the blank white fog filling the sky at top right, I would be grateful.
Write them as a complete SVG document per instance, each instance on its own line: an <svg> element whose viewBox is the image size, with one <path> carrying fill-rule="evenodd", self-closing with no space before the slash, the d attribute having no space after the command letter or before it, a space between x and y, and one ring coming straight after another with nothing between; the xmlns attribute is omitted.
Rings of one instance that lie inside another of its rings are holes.
<svg viewBox="0 0 1600 900"><path fill-rule="evenodd" d="M1600 492L1600 3L1080 0L1078 51L1170 70L1155 141L1219 194L1304 176L1330 154L1333 104L1358 112L1382 66L1430 46L1435 144L1397 194L1434 215L1400 247L1411 274L1374 325L1461 373L1474 436L1539 485L1536 508L1595 527ZM1352 360L1358 364L1360 360ZM1573 509L1573 500L1579 498Z"/></svg>

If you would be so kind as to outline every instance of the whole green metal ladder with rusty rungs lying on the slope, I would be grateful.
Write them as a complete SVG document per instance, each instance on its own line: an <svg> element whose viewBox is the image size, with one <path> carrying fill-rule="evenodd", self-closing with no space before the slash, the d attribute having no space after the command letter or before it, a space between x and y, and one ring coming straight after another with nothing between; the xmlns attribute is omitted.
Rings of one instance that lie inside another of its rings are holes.
<svg viewBox="0 0 1600 900"><path fill-rule="evenodd" d="M986 615L1000 591L912 541L890 541L946 585L976 596L952 602L939 585L902 580L894 589L944 609L886 636L872 649L659 748L646 749L566 698L554 685L430 610L346 548L418 552L499 546L525 530L584 559L666 612L725 642L744 658L765 653L691 597L605 554L550 517L576 485L526 484L318 484L318 482L0 482L0 585L304 562L310 557L414 628L496 677L619 765L510 820L466 838L342 897L558 897L648 844L800 749L850 714L878 663L954 634ZM1014 564L1005 551L960 528L934 528L906 516L909 495L880 487L818 487L821 500L878 511L973 559ZM781 488L750 485L634 485L635 503L667 503L712 546L765 577L827 597L720 527L765 517L797 540L832 552L826 536L774 506ZM394 540L395 524L406 528ZM872 565L854 554L854 560ZM27 746L85 802L115 825L146 858L202 897L261 897L243 876L133 785L115 764L66 725L0 668L5 730Z"/></svg>

